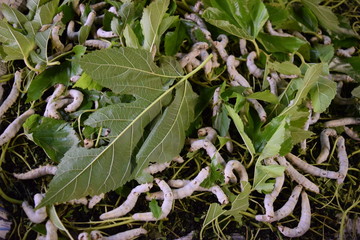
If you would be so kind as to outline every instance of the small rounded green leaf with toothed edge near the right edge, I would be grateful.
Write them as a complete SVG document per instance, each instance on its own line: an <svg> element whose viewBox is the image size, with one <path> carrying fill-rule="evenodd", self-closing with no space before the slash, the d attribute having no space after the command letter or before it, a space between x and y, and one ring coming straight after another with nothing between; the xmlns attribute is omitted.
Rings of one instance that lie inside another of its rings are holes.
<svg viewBox="0 0 360 240"><path fill-rule="evenodd" d="M309 91L314 112L322 113L331 104L336 95L337 84L328 78L321 77Z"/></svg>

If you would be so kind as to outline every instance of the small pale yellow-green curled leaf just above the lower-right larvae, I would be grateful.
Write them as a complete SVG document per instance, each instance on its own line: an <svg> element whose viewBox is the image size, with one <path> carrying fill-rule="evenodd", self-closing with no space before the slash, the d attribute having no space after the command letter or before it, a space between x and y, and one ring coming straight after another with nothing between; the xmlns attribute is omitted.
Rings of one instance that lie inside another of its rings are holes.
<svg viewBox="0 0 360 240"><path fill-rule="evenodd" d="M268 182L269 179L280 177L284 174L285 167L280 165L264 166L261 161L257 161L254 173L254 189L259 193L270 193L274 188L274 183Z"/></svg>

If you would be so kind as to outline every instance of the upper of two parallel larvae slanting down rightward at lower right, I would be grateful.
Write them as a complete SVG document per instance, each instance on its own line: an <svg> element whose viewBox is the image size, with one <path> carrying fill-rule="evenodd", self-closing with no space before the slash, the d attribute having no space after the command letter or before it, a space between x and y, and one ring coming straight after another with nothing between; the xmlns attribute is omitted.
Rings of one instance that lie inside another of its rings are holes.
<svg viewBox="0 0 360 240"><path fill-rule="evenodd" d="M315 166L301 160L300 158L298 158L297 156L295 156L291 153L286 154L286 158L288 160L290 160L290 162L292 162L298 168L300 168L304 172L309 173L313 176L330 178L330 179L338 179L340 177L339 172L324 170L324 169L315 167Z"/></svg>

